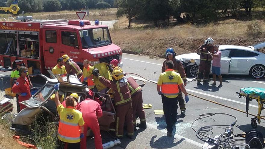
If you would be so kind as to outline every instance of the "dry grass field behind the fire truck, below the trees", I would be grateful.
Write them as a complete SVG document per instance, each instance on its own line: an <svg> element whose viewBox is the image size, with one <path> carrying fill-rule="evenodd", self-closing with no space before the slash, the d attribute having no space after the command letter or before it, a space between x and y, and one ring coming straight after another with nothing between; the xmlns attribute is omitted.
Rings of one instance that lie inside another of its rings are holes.
<svg viewBox="0 0 265 149"><path fill-rule="evenodd" d="M117 8L93 9L89 11L89 20L117 20ZM33 16L33 19L55 20L55 19L78 19L76 11L58 11L58 12L38 12L26 13L27 16ZM0 14L0 17L12 17L11 14ZM87 18L87 16L85 17Z"/></svg>

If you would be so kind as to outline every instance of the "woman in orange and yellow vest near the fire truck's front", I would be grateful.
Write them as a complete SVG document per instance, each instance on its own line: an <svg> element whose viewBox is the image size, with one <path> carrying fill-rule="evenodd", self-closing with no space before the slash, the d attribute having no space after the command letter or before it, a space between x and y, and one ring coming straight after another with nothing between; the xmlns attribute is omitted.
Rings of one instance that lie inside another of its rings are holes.
<svg viewBox="0 0 265 149"><path fill-rule="evenodd" d="M93 92L95 92L95 84L94 81L92 79L92 66L89 65L89 61L88 60L84 60L83 61L83 76L80 78L80 82L82 82L84 85L87 85L89 89L91 89Z"/></svg>

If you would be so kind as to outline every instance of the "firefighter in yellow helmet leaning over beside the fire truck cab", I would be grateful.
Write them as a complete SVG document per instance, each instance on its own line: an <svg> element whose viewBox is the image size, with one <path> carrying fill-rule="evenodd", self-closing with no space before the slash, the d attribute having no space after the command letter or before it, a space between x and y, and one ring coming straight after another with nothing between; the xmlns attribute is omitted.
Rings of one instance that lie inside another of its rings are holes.
<svg viewBox="0 0 265 149"><path fill-rule="evenodd" d="M64 54L62 58L64 61L67 74L70 75L76 74L77 78L80 78L83 75L83 72L80 69L80 67L67 54Z"/></svg>

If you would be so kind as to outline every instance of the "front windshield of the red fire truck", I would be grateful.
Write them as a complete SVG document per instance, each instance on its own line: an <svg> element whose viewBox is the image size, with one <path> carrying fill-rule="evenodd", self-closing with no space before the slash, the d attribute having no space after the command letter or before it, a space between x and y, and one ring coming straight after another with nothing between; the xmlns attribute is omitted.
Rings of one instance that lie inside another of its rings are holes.
<svg viewBox="0 0 265 149"><path fill-rule="evenodd" d="M83 48L96 48L111 44L111 38L107 27L80 30L80 38Z"/></svg>

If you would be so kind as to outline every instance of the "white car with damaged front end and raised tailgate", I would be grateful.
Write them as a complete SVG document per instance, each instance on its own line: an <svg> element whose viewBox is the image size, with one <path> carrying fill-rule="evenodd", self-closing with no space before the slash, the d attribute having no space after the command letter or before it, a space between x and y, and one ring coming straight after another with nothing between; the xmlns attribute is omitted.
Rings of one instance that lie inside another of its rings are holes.
<svg viewBox="0 0 265 149"><path fill-rule="evenodd" d="M250 75L261 78L265 74L265 54L259 49L265 47L265 42L244 47L236 45L220 45L221 74ZM200 55L197 53L176 56L186 70L187 76L197 77Z"/></svg>

